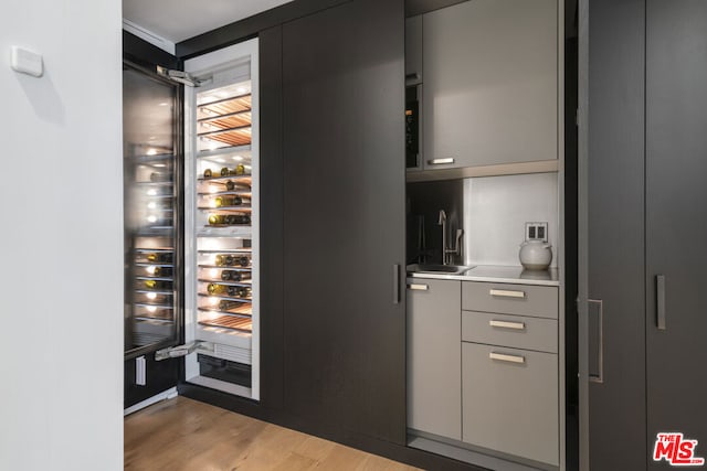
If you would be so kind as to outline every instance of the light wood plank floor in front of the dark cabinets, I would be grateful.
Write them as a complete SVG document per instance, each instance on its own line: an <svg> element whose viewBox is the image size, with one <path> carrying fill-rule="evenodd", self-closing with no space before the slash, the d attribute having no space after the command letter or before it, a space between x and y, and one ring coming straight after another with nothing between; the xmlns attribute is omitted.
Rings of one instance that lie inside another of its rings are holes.
<svg viewBox="0 0 707 471"><path fill-rule="evenodd" d="M415 470L184 397L125 418L126 470Z"/></svg>

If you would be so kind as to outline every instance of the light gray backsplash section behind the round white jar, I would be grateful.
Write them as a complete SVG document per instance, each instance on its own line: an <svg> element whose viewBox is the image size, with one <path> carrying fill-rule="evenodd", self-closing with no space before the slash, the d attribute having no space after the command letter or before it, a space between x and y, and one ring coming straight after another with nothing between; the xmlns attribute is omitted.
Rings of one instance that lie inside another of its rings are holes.
<svg viewBox="0 0 707 471"><path fill-rule="evenodd" d="M546 222L557 267L558 215L557 173L464 180L464 263L520 265L526 222Z"/></svg>

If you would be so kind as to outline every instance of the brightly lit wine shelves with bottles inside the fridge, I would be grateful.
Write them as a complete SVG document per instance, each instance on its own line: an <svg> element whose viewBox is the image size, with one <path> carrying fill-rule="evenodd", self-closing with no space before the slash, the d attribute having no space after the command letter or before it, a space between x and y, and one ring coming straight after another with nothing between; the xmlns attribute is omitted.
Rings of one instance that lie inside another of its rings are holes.
<svg viewBox="0 0 707 471"><path fill-rule="evenodd" d="M250 84L197 98L197 324L247 346L253 315L253 156ZM213 335L209 339L214 338Z"/></svg>

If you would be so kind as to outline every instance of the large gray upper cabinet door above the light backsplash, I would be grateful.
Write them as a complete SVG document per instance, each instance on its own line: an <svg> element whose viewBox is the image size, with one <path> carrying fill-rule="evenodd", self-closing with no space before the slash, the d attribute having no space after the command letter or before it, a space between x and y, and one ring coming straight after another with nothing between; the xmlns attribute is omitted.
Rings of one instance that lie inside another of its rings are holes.
<svg viewBox="0 0 707 471"><path fill-rule="evenodd" d="M473 0L423 15L428 170L557 159L557 0Z"/></svg>

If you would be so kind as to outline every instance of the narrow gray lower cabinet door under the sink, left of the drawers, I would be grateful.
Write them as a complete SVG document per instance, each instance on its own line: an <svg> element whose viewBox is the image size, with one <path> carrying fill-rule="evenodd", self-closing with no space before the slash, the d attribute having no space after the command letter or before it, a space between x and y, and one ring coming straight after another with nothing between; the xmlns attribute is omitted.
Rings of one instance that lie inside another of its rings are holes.
<svg viewBox="0 0 707 471"><path fill-rule="evenodd" d="M462 439L461 281L408 279L408 428Z"/></svg>

